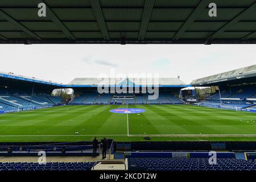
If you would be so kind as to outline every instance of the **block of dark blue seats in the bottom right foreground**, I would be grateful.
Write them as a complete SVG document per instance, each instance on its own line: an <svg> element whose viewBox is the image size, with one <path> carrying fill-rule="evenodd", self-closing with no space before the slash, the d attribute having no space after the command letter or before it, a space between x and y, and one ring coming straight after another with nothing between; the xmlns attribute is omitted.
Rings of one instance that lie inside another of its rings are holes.
<svg viewBox="0 0 256 182"><path fill-rule="evenodd" d="M131 171L251 171L256 168L256 160L220 158L217 164L209 164L207 158L128 158Z"/></svg>

